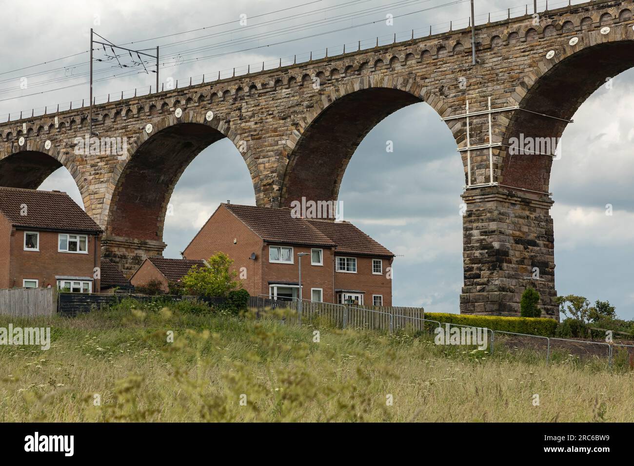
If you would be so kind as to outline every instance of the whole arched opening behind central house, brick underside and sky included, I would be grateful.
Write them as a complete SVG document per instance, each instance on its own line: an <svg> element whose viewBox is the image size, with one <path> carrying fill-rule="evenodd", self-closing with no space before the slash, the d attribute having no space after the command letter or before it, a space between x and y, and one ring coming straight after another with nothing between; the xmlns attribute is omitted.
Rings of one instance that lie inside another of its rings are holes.
<svg viewBox="0 0 634 466"><path fill-rule="evenodd" d="M283 205L338 199L344 220L397 255L394 306L458 311L465 174L427 103L392 88L339 98L304 129L285 180Z"/></svg>

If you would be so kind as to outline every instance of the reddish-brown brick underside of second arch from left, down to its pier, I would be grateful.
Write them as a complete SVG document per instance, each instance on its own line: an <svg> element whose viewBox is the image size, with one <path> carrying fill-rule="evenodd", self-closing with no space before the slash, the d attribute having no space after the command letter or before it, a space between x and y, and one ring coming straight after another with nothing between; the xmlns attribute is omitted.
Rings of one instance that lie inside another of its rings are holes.
<svg viewBox="0 0 634 466"><path fill-rule="evenodd" d="M127 276L145 257L162 254L165 218L174 215L170 199L176 183L198 154L226 138L218 129L195 122L155 131L127 161L110 201L104 256L117 262ZM242 159L243 154L230 145ZM246 152L246 143L244 148ZM214 165L207 165L205 172L210 177ZM190 239L182 238L181 248Z"/></svg>

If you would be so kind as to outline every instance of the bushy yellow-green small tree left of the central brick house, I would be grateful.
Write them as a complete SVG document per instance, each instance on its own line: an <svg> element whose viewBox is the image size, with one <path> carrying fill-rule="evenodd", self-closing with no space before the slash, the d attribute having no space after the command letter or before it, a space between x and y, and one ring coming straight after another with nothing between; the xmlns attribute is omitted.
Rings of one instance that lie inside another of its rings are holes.
<svg viewBox="0 0 634 466"><path fill-rule="evenodd" d="M242 288L235 280L238 272L231 270L233 259L224 252L209 258L204 266L193 266L183 277L183 288L189 294L206 297L226 297L231 290Z"/></svg>

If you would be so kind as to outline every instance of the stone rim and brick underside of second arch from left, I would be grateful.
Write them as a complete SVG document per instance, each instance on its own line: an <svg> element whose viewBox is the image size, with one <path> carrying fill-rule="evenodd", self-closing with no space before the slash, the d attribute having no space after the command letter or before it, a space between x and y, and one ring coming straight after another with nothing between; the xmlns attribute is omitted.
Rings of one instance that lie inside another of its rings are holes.
<svg viewBox="0 0 634 466"><path fill-rule="evenodd" d="M100 216L106 235L162 242L167 204L190 162L223 138L229 138L238 149L242 146L242 136L226 120L214 115L209 122L206 113L183 110L180 118L172 114L154 124L150 134L145 126L139 129L136 139L127 144L126 159L119 162L108 183L107 192L112 197L106 197ZM257 165L249 145L246 147L241 155L254 179L255 190Z"/></svg>

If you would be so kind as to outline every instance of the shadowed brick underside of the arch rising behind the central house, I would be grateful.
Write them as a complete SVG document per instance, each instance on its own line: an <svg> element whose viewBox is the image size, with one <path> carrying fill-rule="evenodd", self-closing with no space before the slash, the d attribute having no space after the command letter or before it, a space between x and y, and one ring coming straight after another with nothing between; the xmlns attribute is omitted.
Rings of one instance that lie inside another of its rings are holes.
<svg viewBox="0 0 634 466"><path fill-rule="evenodd" d="M339 98L304 130L290 154L281 205L335 200L346 165L368 132L391 113L420 102L406 91L371 87Z"/></svg>

